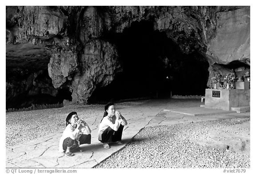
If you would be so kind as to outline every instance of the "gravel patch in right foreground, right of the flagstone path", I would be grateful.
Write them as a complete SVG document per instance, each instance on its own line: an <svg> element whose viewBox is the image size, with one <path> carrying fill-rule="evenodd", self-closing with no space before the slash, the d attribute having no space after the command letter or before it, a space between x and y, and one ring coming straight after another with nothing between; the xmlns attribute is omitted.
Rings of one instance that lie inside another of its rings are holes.
<svg viewBox="0 0 256 174"><path fill-rule="evenodd" d="M96 168L249 168L250 157L191 142L205 139L212 128L223 129L250 118L214 120L141 130L122 151Z"/></svg>

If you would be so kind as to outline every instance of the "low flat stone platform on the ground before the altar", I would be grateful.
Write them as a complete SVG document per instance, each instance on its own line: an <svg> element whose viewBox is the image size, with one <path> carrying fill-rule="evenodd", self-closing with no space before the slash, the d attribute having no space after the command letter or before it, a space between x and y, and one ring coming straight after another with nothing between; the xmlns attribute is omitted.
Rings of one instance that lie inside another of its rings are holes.
<svg viewBox="0 0 256 174"><path fill-rule="evenodd" d="M224 111L220 109L203 108L203 107L172 108L172 109L164 109L164 111L175 112L175 113L185 114L189 116L209 116L209 115L216 115L216 114L235 113L235 111Z"/></svg>

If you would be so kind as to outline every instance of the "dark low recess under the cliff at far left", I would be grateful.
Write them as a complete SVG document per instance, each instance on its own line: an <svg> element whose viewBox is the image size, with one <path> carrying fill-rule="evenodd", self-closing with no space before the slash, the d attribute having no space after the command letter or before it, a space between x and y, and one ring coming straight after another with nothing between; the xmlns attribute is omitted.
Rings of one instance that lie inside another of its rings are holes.
<svg viewBox="0 0 256 174"><path fill-rule="evenodd" d="M47 67L47 66L46 66ZM26 67L19 68L19 72L26 71ZM20 70L21 69L21 70ZM13 69L15 70L15 69ZM27 70L27 73L29 71ZM25 81L29 82L28 74L13 74L7 73L7 77L15 77L12 79L13 81L17 81L17 87L19 86L22 88L22 83ZM30 72L31 73L31 72ZM11 76L12 75L12 76ZM19 75L19 76L18 76ZM22 80L23 79L23 80ZM21 85L19 84L21 81ZM33 83L33 84L32 84ZM6 93L12 93L12 91L7 90ZM52 79L48 75L48 70L44 68L42 73L37 75L33 82L31 82L30 87L26 92L16 95L15 97L9 98L6 101L6 109L8 108L28 108L32 106L32 104L43 105L43 104L56 104L62 103L64 99L72 100L71 92L68 88L60 88L54 89L52 86Z"/></svg>

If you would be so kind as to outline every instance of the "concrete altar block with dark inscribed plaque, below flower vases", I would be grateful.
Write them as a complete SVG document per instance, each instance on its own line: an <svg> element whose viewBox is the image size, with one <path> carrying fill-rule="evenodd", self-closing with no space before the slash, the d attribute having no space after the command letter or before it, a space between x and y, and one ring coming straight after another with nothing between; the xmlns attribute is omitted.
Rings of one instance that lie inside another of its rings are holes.
<svg viewBox="0 0 256 174"><path fill-rule="evenodd" d="M205 107L231 111L250 106L250 89L205 89Z"/></svg>

